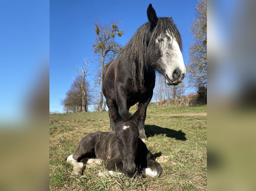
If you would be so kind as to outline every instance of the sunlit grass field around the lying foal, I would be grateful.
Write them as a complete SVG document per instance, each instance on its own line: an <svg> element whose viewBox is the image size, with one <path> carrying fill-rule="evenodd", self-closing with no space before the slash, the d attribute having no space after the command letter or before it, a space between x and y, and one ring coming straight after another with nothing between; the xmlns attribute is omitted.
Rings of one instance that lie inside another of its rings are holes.
<svg viewBox="0 0 256 191"><path fill-rule="evenodd" d="M131 110L133 113L134 110ZM206 190L207 106L148 107L146 143L161 164L160 177L133 179L123 175L98 177L104 168L86 168L83 176L72 175L66 159L81 138L91 132L109 131L108 112L50 114L50 190Z"/></svg>

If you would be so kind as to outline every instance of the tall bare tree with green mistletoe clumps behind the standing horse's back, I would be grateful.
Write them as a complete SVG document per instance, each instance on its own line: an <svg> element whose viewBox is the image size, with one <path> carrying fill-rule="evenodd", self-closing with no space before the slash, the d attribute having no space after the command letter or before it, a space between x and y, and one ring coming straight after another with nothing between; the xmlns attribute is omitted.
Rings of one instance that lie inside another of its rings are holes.
<svg viewBox="0 0 256 191"><path fill-rule="evenodd" d="M115 36L121 37L123 30L119 30L117 24L120 21L112 21L110 25L102 27L101 22L97 20L95 22L96 41L93 45L93 51L97 55L97 61L100 68L97 75L97 84L101 86L100 100L99 100L99 111L105 110L106 104L103 108L103 92L102 92L102 74L105 62L113 60L121 50L121 45L115 41Z"/></svg>

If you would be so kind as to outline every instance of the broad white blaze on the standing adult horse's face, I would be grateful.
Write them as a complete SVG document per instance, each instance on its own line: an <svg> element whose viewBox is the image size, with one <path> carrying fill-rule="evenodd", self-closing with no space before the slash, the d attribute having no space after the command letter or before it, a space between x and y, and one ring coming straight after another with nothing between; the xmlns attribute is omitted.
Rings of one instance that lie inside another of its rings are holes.
<svg viewBox="0 0 256 191"><path fill-rule="evenodd" d="M180 83L176 79L173 79L173 72L176 69L181 71L181 74L185 76L186 67L184 65L183 57L179 49L179 45L174 37L170 33L166 32L162 38L158 38L161 43L161 64L163 71L163 76L166 78L166 84L172 85L172 83ZM170 82L171 81L171 82Z"/></svg>

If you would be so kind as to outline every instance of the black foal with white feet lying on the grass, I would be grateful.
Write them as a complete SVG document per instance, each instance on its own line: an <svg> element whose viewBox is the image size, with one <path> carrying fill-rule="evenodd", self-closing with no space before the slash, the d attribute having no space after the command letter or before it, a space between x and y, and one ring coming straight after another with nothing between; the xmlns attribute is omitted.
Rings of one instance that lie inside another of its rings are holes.
<svg viewBox="0 0 256 191"><path fill-rule="evenodd" d="M160 176L160 164L150 159L145 143L138 138L137 124L144 111L137 110L130 119L121 117L115 108L109 111L116 123L116 133L97 131L83 137L75 153L67 159L74 165L74 173L81 175L84 164L91 162L89 158L99 158L107 161L109 171L118 170L128 177L134 176L138 170Z"/></svg>

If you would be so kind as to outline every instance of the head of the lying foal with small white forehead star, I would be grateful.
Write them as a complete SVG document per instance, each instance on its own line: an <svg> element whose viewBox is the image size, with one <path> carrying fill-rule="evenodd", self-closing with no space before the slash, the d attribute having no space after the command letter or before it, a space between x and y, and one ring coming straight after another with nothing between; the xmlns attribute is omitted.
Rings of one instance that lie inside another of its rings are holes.
<svg viewBox="0 0 256 191"><path fill-rule="evenodd" d="M116 122L116 141L123 162L123 172L126 176L132 177L137 171L135 158L139 137L138 120L142 115L138 110L131 118L129 118L130 115L121 117L115 108L109 109Z"/></svg>

